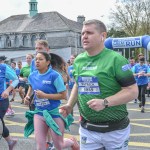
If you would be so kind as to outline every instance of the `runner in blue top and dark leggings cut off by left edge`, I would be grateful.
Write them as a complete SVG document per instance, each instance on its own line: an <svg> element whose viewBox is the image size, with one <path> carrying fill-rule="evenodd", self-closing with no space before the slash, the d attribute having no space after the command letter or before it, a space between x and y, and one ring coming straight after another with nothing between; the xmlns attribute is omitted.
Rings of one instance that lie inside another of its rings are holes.
<svg viewBox="0 0 150 150"><path fill-rule="evenodd" d="M4 64L5 59L6 59L5 56L0 56L0 118L2 119L3 123L4 123L3 120L4 115L9 106L9 100L8 100L9 92L12 89L14 89L19 82L18 77L14 72L14 70L8 65ZM6 81L7 81L6 79L12 80L12 83L9 85L9 87L7 87L6 85ZM5 126L5 123L4 123L4 130L2 136L7 141L9 150L13 150L13 147L17 143L17 140L12 139L9 136L9 130Z"/></svg>

